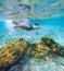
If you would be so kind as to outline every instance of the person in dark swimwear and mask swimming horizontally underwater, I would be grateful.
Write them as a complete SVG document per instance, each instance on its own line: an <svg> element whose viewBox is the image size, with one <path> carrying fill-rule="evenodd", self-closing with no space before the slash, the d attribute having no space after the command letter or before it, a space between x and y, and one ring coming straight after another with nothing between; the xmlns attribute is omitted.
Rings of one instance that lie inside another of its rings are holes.
<svg viewBox="0 0 64 71"><path fill-rule="evenodd" d="M38 24L34 24L34 25L23 25L23 24L18 24L16 22L13 22L15 24L15 27L21 27L21 28L24 28L26 31L31 31L31 29L36 29L36 28L39 28L39 25Z"/></svg>

